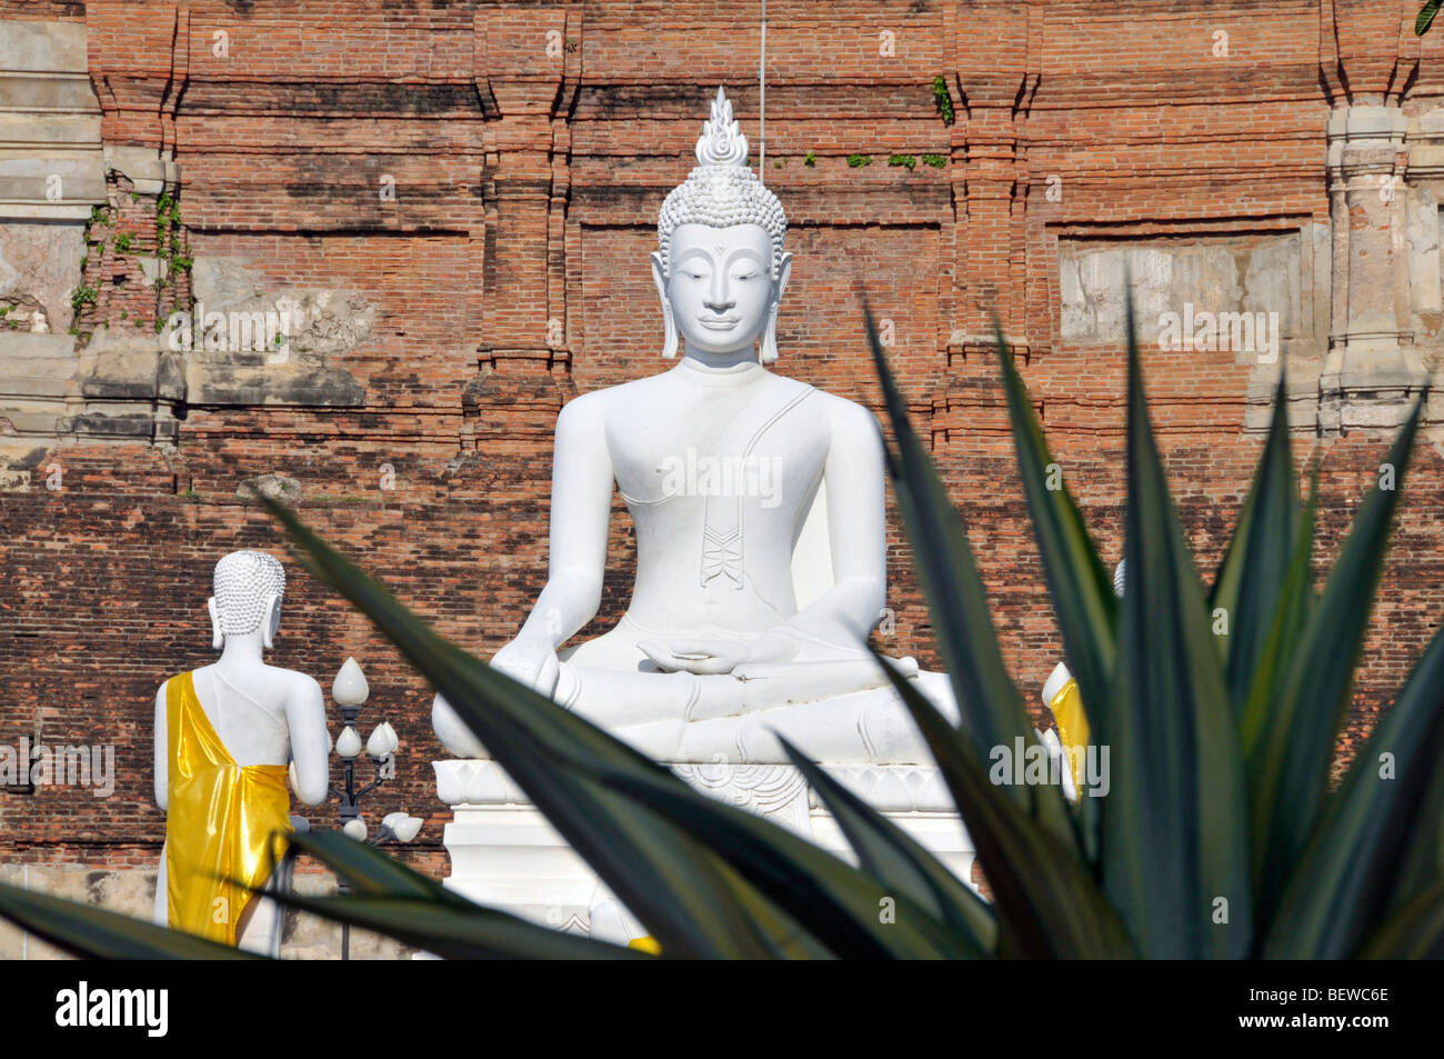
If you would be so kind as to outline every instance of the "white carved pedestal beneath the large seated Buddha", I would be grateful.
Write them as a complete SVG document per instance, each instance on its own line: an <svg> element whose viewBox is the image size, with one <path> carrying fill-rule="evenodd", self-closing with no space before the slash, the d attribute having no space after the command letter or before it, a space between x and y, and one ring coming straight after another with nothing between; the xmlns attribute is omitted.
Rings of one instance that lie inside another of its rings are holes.
<svg viewBox="0 0 1444 1059"><path fill-rule="evenodd" d="M588 933L591 913L611 899L596 874L562 841L495 761L435 761L436 793L452 808L443 842L448 887L471 900L559 929ZM972 886L973 845L937 769L825 766ZM760 813L855 863L836 822L788 764L676 764L699 790Z"/></svg>

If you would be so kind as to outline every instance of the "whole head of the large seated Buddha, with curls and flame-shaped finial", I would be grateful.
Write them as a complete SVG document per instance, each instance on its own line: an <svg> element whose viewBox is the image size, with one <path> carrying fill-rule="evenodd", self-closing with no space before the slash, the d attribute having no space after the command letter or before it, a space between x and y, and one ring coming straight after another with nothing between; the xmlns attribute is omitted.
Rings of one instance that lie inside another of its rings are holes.
<svg viewBox="0 0 1444 1059"><path fill-rule="evenodd" d="M697 165L661 204L660 250L651 273L666 324L663 357L726 355L761 342L777 360L777 306L791 275L783 250L787 217L777 195L747 168L747 139L721 88L702 126Z"/></svg>

